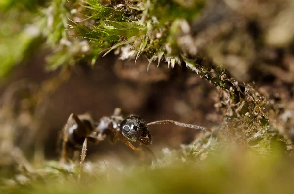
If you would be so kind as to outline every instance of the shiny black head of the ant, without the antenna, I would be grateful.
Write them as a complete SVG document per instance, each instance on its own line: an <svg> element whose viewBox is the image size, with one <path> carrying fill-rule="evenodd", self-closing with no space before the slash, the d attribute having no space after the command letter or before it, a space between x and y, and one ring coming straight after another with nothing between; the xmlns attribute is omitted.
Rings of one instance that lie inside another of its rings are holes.
<svg viewBox="0 0 294 194"><path fill-rule="evenodd" d="M138 116L130 115L124 119L120 126L123 136L132 142L140 142L145 145L152 143L151 134L147 125Z"/></svg>

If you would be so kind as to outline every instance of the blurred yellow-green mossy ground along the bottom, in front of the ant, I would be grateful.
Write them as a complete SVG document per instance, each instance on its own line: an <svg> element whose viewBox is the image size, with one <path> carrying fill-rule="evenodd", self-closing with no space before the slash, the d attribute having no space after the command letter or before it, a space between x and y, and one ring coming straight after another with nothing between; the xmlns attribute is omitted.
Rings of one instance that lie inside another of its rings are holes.
<svg viewBox="0 0 294 194"><path fill-rule="evenodd" d="M196 152L187 156L167 149L163 152L163 159L153 162L151 167L88 162L81 183L75 180L73 169L77 172L77 167L72 166L73 171L69 170L72 167L56 170L53 162L35 174L26 175L30 178L23 178L24 182L19 183L22 186L6 185L0 191L1 194L292 193L293 162L279 149L270 157L261 157L252 150L231 146L226 151L211 152L205 160L192 159ZM6 180L9 182L12 180Z"/></svg>

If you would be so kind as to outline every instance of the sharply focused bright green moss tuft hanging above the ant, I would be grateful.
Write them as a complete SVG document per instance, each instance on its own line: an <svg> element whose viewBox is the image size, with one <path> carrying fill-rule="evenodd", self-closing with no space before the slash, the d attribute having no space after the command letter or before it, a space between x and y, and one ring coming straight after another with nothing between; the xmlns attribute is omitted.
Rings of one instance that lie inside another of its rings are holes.
<svg viewBox="0 0 294 194"><path fill-rule="evenodd" d="M189 1L190 2L190 1ZM164 59L174 65L182 57L176 39L181 21L191 21L204 6L202 0L191 1L190 7L182 1L139 0L124 4L102 5L97 0L84 0L88 24L75 22L71 29L79 38L89 40L94 48L113 50L127 45L133 58L145 53L150 61ZM94 23L94 24L89 24ZM131 40L128 40L131 39Z"/></svg>

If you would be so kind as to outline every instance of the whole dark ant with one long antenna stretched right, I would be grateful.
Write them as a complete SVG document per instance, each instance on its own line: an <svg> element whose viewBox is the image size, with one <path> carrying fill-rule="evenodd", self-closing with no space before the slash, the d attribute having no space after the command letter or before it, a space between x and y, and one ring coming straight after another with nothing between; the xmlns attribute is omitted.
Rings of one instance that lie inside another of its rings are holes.
<svg viewBox="0 0 294 194"><path fill-rule="evenodd" d="M148 126L168 123L187 128L210 131L206 127L180 123L173 120L154 121L146 124L139 116L134 114L126 116L123 114L121 108L115 108L112 116L102 117L98 122L94 122L88 113L81 115L72 113L62 131L63 141L60 162L63 163L66 161L67 147L70 147L73 150L82 149L78 174L79 181L83 162L86 157L88 141L97 144L108 137L111 143L121 140L132 150L139 151L141 149L133 146L131 142L137 142L139 143L139 146L142 144L150 145L152 143L152 136L148 130Z"/></svg>

